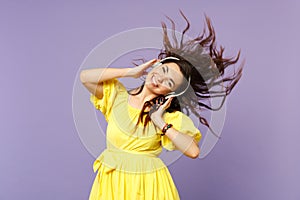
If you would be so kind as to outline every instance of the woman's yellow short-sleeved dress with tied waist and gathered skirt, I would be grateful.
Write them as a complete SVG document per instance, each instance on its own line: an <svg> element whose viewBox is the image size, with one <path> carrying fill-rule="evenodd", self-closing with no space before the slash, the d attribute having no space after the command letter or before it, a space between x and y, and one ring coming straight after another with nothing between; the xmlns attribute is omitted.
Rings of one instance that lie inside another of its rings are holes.
<svg viewBox="0 0 300 200"><path fill-rule="evenodd" d="M128 93L118 79L103 82L103 97L90 94L90 101L108 122L106 149L93 164L96 174L89 200L178 200L180 196L171 174L158 157L162 147L169 151L175 145L151 122L143 134L143 125L135 131L140 110L128 104ZM193 136L200 131L192 120L176 111L165 113L165 122L176 130Z"/></svg>

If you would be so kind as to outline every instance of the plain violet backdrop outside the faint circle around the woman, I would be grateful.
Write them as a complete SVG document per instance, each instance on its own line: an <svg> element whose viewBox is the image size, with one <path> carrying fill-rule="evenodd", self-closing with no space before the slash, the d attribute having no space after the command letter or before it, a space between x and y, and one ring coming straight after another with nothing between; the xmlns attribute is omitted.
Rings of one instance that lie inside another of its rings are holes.
<svg viewBox="0 0 300 200"><path fill-rule="evenodd" d="M78 69L100 42L159 27L164 15L190 34L212 18L243 77L227 101L223 138L203 160L169 170L183 200L298 200L299 3L296 1L1 1L0 199L88 199L94 157L72 115ZM120 44L121 45L121 44ZM88 101L88 99L87 99ZM297 123L298 122L298 123Z"/></svg>

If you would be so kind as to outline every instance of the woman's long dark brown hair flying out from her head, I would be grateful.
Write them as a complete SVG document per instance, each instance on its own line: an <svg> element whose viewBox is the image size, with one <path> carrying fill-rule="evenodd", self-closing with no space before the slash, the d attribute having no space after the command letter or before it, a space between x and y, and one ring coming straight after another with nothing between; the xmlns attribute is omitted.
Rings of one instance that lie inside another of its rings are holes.
<svg viewBox="0 0 300 200"><path fill-rule="evenodd" d="M200 36L194 39L185 38L186 32L190 28L190 23L186 16L180 11L180 14L185 19L187 25L181 33L181 38L178 40L175 31L174 21L167 17L167 19L172 24L172 42L168 36L167 25L162 22L163 28L163 45L164 48L158 55L159 59L163 59L169 56L179 58L179 60L166 60L163 63L173 62L176 63L180 71L182 72L185 79L190 76L190 89L187 90L183 95L174 97L172 99L171 105L166 109L166 112L174 111L186 111L187 115L192 112L196 115L199 121L207 126L209 130L218 138L220 138L210 127L207 120L200 115L201 110L208 109L212 111L220 110L225 102L226 96L230 94L236 83L240 80L242 76L242 70L244 67L244 61L240 65L237 72L230 74L229 76L224 76L225 69L229 66L234 66L240 58L240 50L235 58L224 58L224 47L220 46L217 49L216 46L216 34L214 28L211 24L211 20L205 15L206 26L208 29L208 34L206 35L206 27L203 28L203 32ZM225 85L225 83L227 83ZM137 88L136 93L129 93L131 95L137 95L143 90L145 82ZM222 86L222 90L210 90L214 86ZM182 91L186 85L182 84L178 91ZM176 91L175 91L176 92ZM146 101L141 110L138 122L136 126L141 122L144 124L144 128L147 126L151 118L149 112L145 109L150 108L153 104L157 103L157 100L161 98L162 95L157 96L149 101ZM212 98L223 97L221 105L217 108L212 108L205 101L211 100Z"/></svg>

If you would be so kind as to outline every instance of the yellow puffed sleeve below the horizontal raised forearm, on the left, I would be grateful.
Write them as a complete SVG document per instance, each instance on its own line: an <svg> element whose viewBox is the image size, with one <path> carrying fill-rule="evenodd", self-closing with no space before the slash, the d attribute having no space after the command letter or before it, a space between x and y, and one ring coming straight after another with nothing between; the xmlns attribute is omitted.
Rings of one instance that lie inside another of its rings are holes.
<svg viewBox="0 0 300 200"><path fill-rule="evenodd" d="M99 99L92 93L90 94L90 102L97 110L100 110L103 113L106 121L109 120L114 99L118 94L119 85L120 82L118 81L118 79L110 79L103 82L103 96L101 99Z"/></svg>

